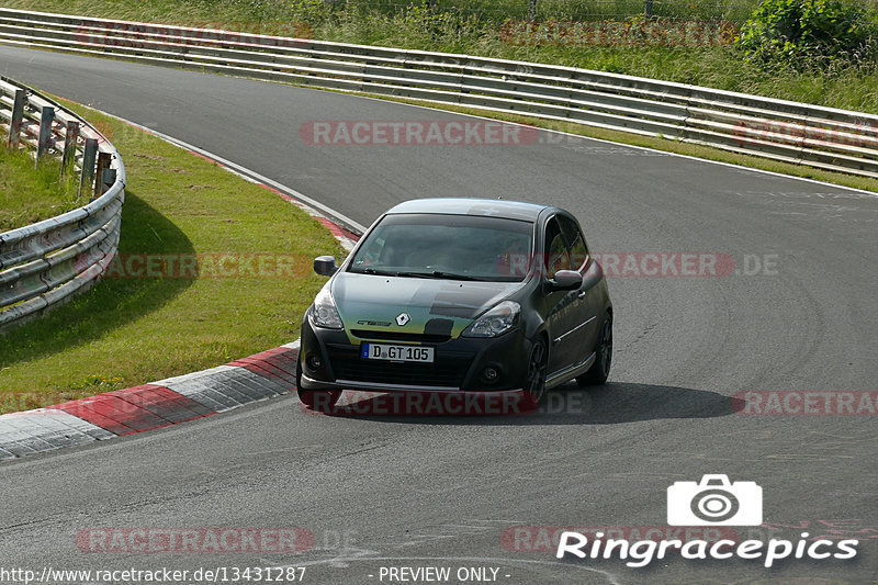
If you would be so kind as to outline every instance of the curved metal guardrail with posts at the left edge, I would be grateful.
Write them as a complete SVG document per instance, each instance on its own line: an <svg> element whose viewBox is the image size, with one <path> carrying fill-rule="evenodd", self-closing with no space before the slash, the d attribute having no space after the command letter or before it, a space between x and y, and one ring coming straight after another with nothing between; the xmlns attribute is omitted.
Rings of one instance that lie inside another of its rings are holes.
<svg viewBox="0 0 878 585"><path fill-rule="evenodd" d="M49 98L0 78L0 135L12 148L61 158L79 172L82 207L0 233L0 329L66 301L100 278L119 245L125 167L88 122Z"/></svg>

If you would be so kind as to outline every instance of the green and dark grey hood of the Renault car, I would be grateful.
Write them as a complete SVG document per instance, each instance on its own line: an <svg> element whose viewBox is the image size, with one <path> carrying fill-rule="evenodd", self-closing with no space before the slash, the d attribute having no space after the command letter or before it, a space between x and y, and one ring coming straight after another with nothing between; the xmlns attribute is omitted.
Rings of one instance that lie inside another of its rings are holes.
<svg viewBox="0 0 878 585"><path fill-rule="evenodd" d="M475 317L522 285L341 272L333 281L331 293L349 333L365 329L458 337ZM399 325L396 317L403 313L408 319Z"/></svg>

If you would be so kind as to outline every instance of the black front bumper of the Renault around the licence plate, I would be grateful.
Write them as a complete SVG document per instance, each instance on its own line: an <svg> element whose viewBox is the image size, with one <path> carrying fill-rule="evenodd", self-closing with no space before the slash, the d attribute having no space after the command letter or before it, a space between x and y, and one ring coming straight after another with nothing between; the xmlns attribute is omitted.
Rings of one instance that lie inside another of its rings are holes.
<svg viewBox="0 0 878 585"><path fill-rule="evenodd" d="M530 342L521 328L496 338L449 339L416 344L434 347L434 363L393 362L361 358L361 342L410 345L410 341L352 338L344 330L302 323L299 353L303 390L362 390L367 392L510 392L527 375ZM311 358L311 359L309 359ZM316 360L314 359L316 358ZM316 362L319 362L317 365ZM487 368L498 372L488 381Z"/></svg>

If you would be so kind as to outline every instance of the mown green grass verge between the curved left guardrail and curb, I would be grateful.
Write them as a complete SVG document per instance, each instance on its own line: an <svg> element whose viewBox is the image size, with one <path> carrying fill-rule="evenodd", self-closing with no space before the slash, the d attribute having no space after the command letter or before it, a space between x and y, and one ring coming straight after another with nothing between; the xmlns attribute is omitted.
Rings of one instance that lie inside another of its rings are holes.
<svg viewBox="0 0 878 585"><path fill-rule="evenodd" d="M280 255L296 261L296 275L104 279L0 337L0 412L139 385L296 339L300 318L325 281L311 271L309 259L344 255L335 238L259 185L74 109L113 142L126 165L122 255Z"/></svg>

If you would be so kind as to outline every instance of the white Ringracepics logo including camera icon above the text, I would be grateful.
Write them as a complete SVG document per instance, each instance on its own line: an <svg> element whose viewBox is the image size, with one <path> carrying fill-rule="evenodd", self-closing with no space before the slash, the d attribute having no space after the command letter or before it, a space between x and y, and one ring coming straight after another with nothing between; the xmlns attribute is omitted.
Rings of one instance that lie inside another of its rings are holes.
<svg viewBox="0 0 878 585"><path fill-rule="evenodd" d="M671 526L759 526L762 487L754 482L730 483L725 475L705 475L700 482L677 482L667 488L667 519ZM858 540L810 538L801 532L797 541L787 539L739 540L721 538L638 540L607 538L598 531L564 531L555 556L572 554L579 559L616 559L630 567L642 567L665 559L671 551L687 560L761 560L766 567L784 559L847 560L857 555Z"/></svg>

